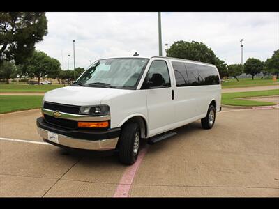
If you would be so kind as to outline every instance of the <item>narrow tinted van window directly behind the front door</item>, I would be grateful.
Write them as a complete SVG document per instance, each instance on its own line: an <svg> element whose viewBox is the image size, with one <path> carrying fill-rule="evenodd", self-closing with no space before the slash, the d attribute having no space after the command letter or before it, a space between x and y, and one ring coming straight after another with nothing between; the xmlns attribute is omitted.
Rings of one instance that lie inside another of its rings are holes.
<svg viewBox="0 0 279 209"><path fill-rule="evenodd" d="M174 68L176 86L188 86L188 75L185 64L181 62L172 62L172 67Z"/></svg>

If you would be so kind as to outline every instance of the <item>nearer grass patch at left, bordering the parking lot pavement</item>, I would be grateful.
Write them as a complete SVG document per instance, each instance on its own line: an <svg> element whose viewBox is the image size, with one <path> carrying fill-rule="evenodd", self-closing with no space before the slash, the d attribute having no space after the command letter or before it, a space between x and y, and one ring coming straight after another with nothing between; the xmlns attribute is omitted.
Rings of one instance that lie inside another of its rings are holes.
<svg viewBox="0 0 279 209"><path fill-rule="evenodd" d="M0 114L40 108L43 96L0 95Z"/></svg>

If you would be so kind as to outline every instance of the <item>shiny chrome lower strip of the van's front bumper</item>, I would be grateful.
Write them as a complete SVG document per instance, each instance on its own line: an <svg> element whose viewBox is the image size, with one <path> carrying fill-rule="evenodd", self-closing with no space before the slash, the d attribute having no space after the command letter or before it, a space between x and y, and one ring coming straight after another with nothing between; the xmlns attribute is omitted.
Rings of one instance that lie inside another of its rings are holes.
<svg viewBox="0 0 279 209"><path fill-rule="evenodd" d="M47 132L49 131L38 127L38 134L40 134L40 137L43 137L43 139L47 139L47 141L49 141ZM62 134L57 134L57 135L58 135L59 143L57 144L52 141L54 144L68 146L70 148L80 148L86 150L112 150L116 148L116 144L119 139L119 137L116 137L112 139L101 139L97 141L91 141L91 140L84 140L84 139L75 139L75 138L64 136Z"/></svg>

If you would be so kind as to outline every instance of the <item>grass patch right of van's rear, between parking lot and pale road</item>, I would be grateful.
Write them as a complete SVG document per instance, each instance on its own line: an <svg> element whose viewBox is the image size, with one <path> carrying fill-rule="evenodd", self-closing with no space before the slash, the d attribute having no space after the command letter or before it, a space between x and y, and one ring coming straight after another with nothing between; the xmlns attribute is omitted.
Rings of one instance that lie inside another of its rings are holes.
<svg viewBox="0 0 279 209"><path fill-rule="evenodd" d="M247 92L235 92L235 93L223 93L222 104L233 105L233 106L268 106L275 105L273 102L262 102L262 101L250 101L250 100L239 100L236 98L252 98L260 96L279 95L279 90L266 90L266 91L247 91Z"/></svg>

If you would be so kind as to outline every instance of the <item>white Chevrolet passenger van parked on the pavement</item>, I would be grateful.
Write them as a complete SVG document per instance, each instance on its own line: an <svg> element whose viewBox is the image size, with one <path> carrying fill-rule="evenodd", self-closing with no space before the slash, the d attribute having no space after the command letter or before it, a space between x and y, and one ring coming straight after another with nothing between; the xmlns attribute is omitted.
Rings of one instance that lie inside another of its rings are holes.
<svg viewBox="0 0 279 209"><path fill-rule="evenodd" d="M118 150L120 162L133 164L141 139L153 144L199 119L204 129L213 127L220 100L215 65L162 56L100 59L72 86L45 93L38 133L64 148Z"/></svg>

